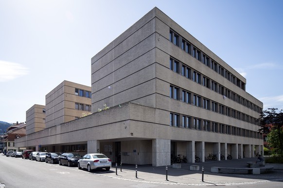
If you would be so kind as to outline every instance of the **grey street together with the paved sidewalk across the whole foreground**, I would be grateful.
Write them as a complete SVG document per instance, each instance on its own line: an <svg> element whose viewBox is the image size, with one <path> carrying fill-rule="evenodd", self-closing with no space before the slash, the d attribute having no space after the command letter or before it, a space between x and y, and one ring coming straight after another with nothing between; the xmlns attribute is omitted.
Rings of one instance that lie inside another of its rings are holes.
<svg viewBox="0 0 283 188"><path fill-rule="evenodd" d="M185 188L203 186L227 186L229 188L282 188L283 171L263 174L219 174L209 172L211 166L240 165L248 159L230 161L207 161L195 163L207 171L202 182L201 171L190 171L190 163L181 163L182 169L169 166L168 181L165 167L142 165L138 167L137 177L134 165L124 165L110 171L88 172L77 167L60 166L28 159L6 157L0 154L0 188L41 188L41 187L79 187L79 188ZM112 165L115 167L115 165Z"/></svg>

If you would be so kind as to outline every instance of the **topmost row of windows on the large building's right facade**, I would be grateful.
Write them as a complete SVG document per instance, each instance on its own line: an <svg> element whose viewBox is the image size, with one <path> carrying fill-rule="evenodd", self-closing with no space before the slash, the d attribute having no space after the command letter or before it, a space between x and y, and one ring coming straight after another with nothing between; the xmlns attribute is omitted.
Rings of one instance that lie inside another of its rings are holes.
<svg viewBox="0 0 283 188"><path fill-rule="evenodd" d="M246 84L244 82L242 82L239 78L236 78L229 71L227 71L225 68L220 66L214 60L212 60L212 58L204 54L201 50L199 50L194 45L192 45L192 43L188 42L188 40L177 34L177 32L170 30L169 40L174 45L180 47L182 50L192 55L198 61L204 63L205 65L210 67L215 72L219 73L224 78L227 78L233 84L237 85L243 90L246 90Z"/></svg>

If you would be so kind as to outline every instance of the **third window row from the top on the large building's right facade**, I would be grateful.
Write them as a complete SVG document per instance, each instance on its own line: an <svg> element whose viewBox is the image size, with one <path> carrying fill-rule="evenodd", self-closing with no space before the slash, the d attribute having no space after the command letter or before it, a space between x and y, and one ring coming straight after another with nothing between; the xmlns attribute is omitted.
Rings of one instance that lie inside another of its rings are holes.
<svg viewBox="0 0 283 188"><path fill-rule="evenodd" d="M249 116L240 111L231 109L222 104L218 104L217 102L211 101L208 98L204 98L202 96L191 93L189 91L186 91L182 88L178 88L173 85L170 85L170 98L180 100L182 102L192 104L197 107L204 108L206 110L212 110L214 112L221 113L223 115L227 115L229 117L236 118L238 120L242 120L254 125L259 125L259 121L256 121L257 118Z"/></svg>

